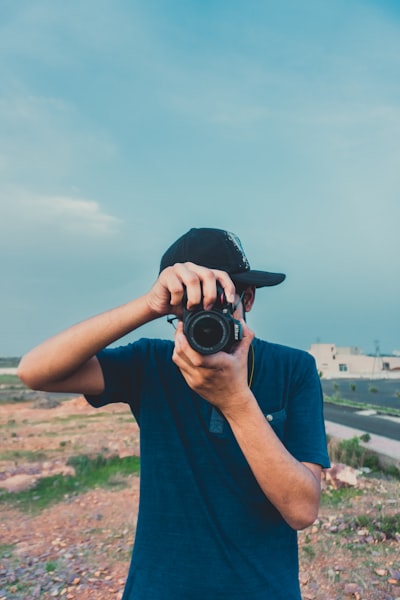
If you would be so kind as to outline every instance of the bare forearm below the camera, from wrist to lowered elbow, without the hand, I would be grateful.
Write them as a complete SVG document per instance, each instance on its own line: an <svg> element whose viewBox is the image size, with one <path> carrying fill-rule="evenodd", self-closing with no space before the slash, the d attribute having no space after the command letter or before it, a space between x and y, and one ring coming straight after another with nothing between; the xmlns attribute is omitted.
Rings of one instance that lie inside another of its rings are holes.
<svg viewBox="0 0 400 600"><path fill-rule="evenodd" d="M233 434L261 489L293 529L310 525L318 514L319 468L297 461L283 446L249 390L241 406L226 411Z"/></svg>

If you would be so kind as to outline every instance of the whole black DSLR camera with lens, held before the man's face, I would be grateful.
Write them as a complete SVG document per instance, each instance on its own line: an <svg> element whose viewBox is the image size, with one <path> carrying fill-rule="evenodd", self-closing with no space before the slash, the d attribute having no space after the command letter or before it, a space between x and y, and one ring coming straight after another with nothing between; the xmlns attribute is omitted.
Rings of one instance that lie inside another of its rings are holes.
<svg viewBox="0 0 400 600"><path fill-rule="evenodd" d="M200 354L230 352L243 337L242 325L232 317L234 306L227 302L224 290L217 285L217 301L211 310L201 306L188 310L183 298L183 332L191 347Z"/></svg>

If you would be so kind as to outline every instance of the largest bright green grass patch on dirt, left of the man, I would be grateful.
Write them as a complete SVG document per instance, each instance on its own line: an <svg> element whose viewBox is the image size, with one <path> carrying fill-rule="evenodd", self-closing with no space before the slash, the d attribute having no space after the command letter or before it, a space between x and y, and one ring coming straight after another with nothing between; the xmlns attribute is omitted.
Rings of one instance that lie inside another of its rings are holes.
<svg viewBox="0 0 400 600"><path fill-rule="evenodd" d="M47 506L76 496L94 487L121 487L122 477L138 473L138 456L91 458L87 455L73 456L68 465L74 467L75 476L53 475L39 479L36 486L18 493L0 493L0 503L7 502L22 511L35 513Z"/></svg>

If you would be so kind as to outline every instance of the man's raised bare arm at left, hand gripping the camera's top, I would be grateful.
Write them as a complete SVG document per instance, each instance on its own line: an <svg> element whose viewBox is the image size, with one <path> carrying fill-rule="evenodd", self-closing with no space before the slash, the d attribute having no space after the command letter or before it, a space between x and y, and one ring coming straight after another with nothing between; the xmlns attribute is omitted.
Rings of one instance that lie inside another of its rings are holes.
<svg viewBox="0 0 400 600"><path fill-rule="evenodd" d="M21 360L18 376L32 389L101 394L104 380L96 358L100 350L153 319L182 314L185 290L189 306L201 302L202 297L205 305L212 305L216 298L216 281L224 287L227 296L233 296L234 285L223 271L193 263L168 267L147 294L82 321L39 344Z"/></svg>

